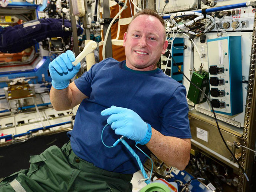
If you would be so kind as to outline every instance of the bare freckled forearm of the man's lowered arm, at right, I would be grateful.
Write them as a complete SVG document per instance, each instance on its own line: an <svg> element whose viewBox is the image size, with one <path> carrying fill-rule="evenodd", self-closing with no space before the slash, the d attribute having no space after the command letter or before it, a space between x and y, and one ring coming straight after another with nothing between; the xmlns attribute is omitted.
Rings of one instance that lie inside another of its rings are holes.
<svg viewBox="0 0 256 192"><path fill-rule="evenodd" d="M157 158L179 170L185 169L190 159L190 140L164 136L152 128L152 136L146 144Z"/></svg>

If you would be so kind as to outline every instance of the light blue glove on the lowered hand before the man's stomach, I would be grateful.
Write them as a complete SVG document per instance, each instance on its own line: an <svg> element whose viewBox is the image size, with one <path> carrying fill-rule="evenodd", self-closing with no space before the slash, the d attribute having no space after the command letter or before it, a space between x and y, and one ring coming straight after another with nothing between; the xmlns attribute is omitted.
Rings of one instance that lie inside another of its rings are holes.
<svg viewBox="0 0 256 192"><path fill-rule="evenodd" d="M147 123L131 109L111 106L101 112L102 116L110 115L107 122L113 122L111 128L116 135L123 135L128 139L141 141L148 130Z"/></svg>

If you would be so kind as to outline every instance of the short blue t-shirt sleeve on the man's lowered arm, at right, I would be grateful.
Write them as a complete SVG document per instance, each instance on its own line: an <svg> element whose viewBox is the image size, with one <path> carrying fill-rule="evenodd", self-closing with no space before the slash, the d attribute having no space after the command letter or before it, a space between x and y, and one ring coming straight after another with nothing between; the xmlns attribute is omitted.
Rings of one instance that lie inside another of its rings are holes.
<svg viewBox="0 0 256 192"><path fill-rule="evenodd" d="M174 136L181 139L192 138L188 120L188 103L186 88L179 86L163 107L160 114L160 132L165 136Z"/></svg>

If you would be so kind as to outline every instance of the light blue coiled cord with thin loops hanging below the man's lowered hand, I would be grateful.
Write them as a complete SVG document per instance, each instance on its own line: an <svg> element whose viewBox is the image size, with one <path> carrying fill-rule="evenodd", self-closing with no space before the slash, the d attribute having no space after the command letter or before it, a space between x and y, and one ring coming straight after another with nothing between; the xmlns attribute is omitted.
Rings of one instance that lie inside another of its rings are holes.
<svg viewBox="0 0 256 192"><path fill-rule="evenodd" d="M134 158L137 160L138 165L139 165L139 167L140 167L140 169L141 169L142 175L144 176L145 179L147 179L147 180L145 180L145 183L150 184L150 179L151 179L151 175L152 175L152 171L153 171L153 161L152 161L152 159L151 159L146 153L144 153L140 148L138 148L137 145L135 145L142 153L144 153L144 155L146 155L146 156L151 160L152 166L151 166L150 178L148 178L148 175L147 175L147 173L145 172L145 169L144 169L144 167L143 167L143 165L142 165L142 163L141 163L140 157L134 152L134 150L131 148L131 146L129 146L129 144L124 140L124 136L121 136L121 138L119 138L118 140L116 140L116 142L115 142L112 146L107 146L107 145L104 143L103 138L102 138L102 136L103 136L103 131L104 131L104 129L106 128L106 126L107 126L107 125L110 125L111 123L112 123L112 122L109 122L109 123L106 124L106 125L104 126L104 128L102 129L102 132L101 132L101 141L102 141L103 145L104 145L105 147L107 147L107 148L112 148L112 147L116 146L116 145L121 141L121 142L124 144L124 146L129 150L129 152L131 152L131 154L134 156Z"/></svg>

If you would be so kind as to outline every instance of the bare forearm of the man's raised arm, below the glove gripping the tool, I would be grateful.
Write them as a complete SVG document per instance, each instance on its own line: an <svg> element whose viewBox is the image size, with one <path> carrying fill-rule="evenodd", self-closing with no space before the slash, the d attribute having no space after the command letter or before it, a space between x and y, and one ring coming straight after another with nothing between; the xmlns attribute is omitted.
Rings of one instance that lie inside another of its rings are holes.
<svg viewBox="0 0 256 192"><path fill-rule="evenodd" d="M50 100L55 110L68 110L72 103L72 91L69 87L65 89L50 90Z"/></svg>

